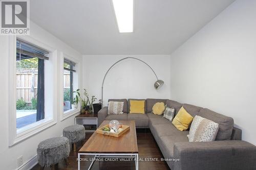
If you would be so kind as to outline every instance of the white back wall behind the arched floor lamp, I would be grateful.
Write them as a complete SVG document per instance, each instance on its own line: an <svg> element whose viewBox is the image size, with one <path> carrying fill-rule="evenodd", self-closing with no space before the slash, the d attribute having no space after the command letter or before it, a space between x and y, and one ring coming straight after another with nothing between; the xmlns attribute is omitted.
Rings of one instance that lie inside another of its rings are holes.
<svg viewBox="0 0 256 170"><path fill-rule="evenodd" d="M83 56L83 87L90 94L101 99L101 84L105 72L119 59L135 57L150 65L164 85L155 90L156 77L144 63L128 59L117 63L106 76L104 83L104 105L108 99L146 99L169 98L169 55L84 55Z"/></svg>

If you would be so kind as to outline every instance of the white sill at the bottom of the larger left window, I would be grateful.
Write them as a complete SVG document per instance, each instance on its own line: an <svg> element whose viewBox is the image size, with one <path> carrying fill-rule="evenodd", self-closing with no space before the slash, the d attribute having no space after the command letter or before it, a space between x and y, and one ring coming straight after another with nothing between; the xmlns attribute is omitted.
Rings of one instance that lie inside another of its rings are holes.
<svg viewBox="0 0 256 170"><path fill-rule="evenodd" d="M12 147L13 145L22 142L23 140L41 132L42 130L45 130L53 125L55 125L57 122L56 120L52 118L43 119L38 122L35 122L33 124L30 124L26 127L18 129L16 132L16 137L12 141L11 145L9 147Z"/></svg>

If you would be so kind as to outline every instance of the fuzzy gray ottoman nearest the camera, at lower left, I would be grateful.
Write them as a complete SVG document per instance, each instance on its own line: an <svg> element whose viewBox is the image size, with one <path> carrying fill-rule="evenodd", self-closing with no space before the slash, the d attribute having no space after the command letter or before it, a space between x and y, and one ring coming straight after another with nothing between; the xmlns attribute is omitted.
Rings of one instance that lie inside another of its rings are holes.
<svg viewBox="0 0 256 170"><path fill-rule="evenodd" d="M53 137L41 141L37 147L38 164L43 168L57 164L61 159L65 159L68 165L70 147L67 137Z"/></svg>

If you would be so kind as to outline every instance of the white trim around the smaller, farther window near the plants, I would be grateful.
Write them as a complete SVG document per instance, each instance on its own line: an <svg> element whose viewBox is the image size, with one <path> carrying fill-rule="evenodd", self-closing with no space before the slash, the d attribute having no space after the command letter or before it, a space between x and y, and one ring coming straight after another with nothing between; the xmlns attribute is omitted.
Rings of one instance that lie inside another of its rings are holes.
<svg viewBox="0 0 256 170"><path fill-rule="evenodd" d="M75 59L75 58L73 58L73 57L70 57L69 55L67 55L67 54L64 54L64 53L60 53L60 72L61 72L61 75L63 75L63 71L64 71L64 69L63 69L63 64L64 64L64 58L66 58L66 59L69 59L69 60L71 60L71 61L73 61L73 62L75 62L76 63L76 73L77 73L77 77L78 77L78 87L80 87L80 61L78 61L77 59ZM80 104L78 103L78 106L77 106L77 109L70 109L70 110L67 110L67 111L65 111L65 112L63 112L63 104L61 104L61 103L63 103L63 89L64 89L64 87L63 87L63 76L61 76L61 78L60 78L60 82L62 82L61 83L61 92L60 92L60 96L61 96L61 98L59 98L60 99L60 110L61 110L61 112L60 112L60 121L62 121L62 120L65 120L66 118L68 118L68 117L70 117L70 116L72 116L72 115L74 115L74 114L77 114L77 113L80 113ZM74 90L74 89L73 89Z"/></svg>

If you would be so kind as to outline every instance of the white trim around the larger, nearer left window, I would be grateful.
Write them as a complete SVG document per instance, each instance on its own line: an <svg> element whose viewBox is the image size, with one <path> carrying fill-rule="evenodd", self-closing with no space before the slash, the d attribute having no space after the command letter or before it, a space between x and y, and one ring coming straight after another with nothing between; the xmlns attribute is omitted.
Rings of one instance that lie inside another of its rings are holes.
<svg viewBox="0 0 256 170"><path fill-rule="evenodd" d="M37 46L40 46L41 48L44 48L45 50L49 51L50 53L53 53L53 71L54 71L54 103L53 106L57 106L57 51L49 47L48 45L39 42L35 39L33 39L31 36L9 36L9 56L8 56L8 64L9 64L9 78L8 78L8 113L9 113L9 147L12 147L13 145L29 138L32 135L35 135L39 133L42 130L45 130L57 123L57 107L53 107L53 115L52 118L40 120L36 123L31 124L26 128L26 130L20 130L20 133L17 134L16 129L16 38L23 39L24 41L30 42L32 44L35 44Z"/></svg>

